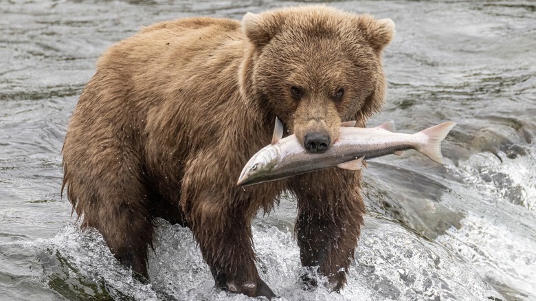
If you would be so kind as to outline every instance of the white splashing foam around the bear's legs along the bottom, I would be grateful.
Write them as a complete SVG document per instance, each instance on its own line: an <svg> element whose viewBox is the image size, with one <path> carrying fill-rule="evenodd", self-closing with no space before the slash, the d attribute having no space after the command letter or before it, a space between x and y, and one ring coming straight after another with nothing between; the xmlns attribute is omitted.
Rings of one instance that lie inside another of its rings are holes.
<svg viewBox="0 0 536 301"><path fill-rule="evenodd" d="M300 289L298 279L304 269L295 238L289 231L268 225L254 227L260 276L280 300L500 298L477 271L440 245L383 219L367 217L366 225L357 259L350 266L348 285L340 294L324 287ZM53 264L44 264L49 266L43 274L44 283L71 279L71 290L102 291L105 287L113 298L133 300L254 300L214 289L210 269L203 263L190 230L162 221L157 235L155 252L150 252L148 285L135 280L131 271L113 258L98 232L79 230L74 223L51 240L38 240L27 247L37 247L44 258L52 258ZM317 280L326 282L325 278ZM91 283L101 288L95 289Z"/></svg>

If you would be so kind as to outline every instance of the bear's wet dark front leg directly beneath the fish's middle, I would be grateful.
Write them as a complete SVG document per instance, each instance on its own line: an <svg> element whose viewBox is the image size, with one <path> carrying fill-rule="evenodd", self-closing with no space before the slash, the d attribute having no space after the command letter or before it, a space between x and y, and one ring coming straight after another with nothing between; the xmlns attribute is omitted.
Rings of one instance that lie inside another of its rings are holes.
<svg viewBox="0 0 536 301"><path fill-rule="evenodd" d="M328 287L339 291L353 260L365 205L358 172L331 169L294 177L298 201L295 234L302 266L317 268L328 278ZM310 275L302 276L304 288L315 287Z"/></svg>

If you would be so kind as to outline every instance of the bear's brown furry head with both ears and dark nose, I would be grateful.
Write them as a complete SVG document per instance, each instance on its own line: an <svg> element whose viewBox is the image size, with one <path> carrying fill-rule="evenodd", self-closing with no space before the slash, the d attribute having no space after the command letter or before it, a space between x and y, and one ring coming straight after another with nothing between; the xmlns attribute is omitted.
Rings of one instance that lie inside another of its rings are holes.
<svg viewBox="0 0 536 301"><path fill-rule="evenodd" d="M306 150L328 150L341 122L364 126L381 109L390 19L298 6L247 13L243 32L251 45L241 67L242 93L262 101Z"/></svg>

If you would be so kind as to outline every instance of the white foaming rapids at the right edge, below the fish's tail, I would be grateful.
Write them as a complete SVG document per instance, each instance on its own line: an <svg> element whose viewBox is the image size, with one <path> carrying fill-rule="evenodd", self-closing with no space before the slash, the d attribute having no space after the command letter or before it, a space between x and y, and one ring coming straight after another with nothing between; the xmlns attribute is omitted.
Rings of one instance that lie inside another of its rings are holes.
<svg viewBox="0 0 536 301"><path fill-rule="evenodd" d="M536 300L536 157L472 155L444 203L467 212L436 241L478 269L509 300Z"/></svg>

